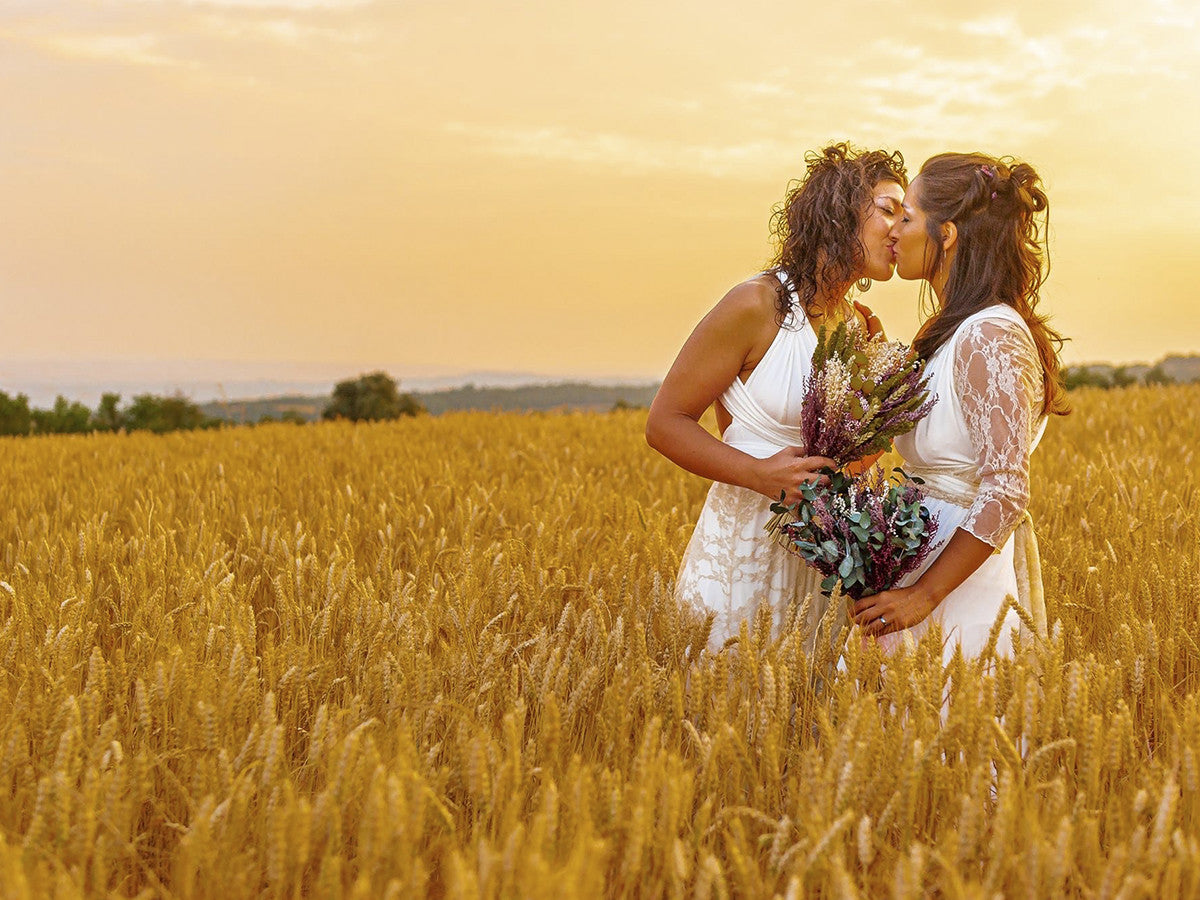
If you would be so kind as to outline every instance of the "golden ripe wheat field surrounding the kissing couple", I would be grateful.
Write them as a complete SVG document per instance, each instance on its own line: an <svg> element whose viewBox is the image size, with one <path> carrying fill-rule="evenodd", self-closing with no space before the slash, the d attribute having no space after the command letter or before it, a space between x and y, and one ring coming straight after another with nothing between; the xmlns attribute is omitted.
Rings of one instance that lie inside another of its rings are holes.
<svg viewBox="0 0 1200 900"><path fill-rule="evenodd" d="M1200 388L1073 401L947 670L691 659L644 413L5 439L0 895L1196 896Z"/></svg>

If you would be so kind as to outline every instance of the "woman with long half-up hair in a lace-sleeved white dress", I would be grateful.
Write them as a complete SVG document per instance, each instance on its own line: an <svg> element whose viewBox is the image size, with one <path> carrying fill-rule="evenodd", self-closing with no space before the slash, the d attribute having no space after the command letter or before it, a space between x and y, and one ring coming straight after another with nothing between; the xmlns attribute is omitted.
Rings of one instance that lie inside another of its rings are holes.
<svg viewBox="0 0 1200 900"><path fill-rule="evenodd" d="M896 271L925 282L934 314L913 348L928 360L932 412L895 442L925 481L942 542L912 583L860 600L854 620L892 649L938 622L948 659L983 652L1008 595L1045 630L1030 499L1030 455L1049 415L1067 409L1062 337L1037 311L1048 271L1049 200L1033 168L983 154L929 160L892 230ZM996 649L1008 654L1010 610Z"/></svg>

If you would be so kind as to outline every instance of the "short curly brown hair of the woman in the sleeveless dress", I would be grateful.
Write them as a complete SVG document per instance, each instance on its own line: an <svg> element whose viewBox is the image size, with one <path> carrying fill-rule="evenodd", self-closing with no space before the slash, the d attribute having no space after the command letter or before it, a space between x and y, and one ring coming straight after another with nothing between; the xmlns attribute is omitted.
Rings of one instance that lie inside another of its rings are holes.
<svg viewBox="0 0 1200 900"><path fill-rule="evenodd" d="M865 256L858 229L870 209L871 194L881 181L908 187L904 156L886 150L862 150L840 142L809 152L808 172L788 185L772 212L770 232L775 256L770 270L784 272L804 311L816 318L822 310L815 301L822 289L859 282ZM782 326L792 313L791 296L782 284L775 300L776 319Z"/></svg>

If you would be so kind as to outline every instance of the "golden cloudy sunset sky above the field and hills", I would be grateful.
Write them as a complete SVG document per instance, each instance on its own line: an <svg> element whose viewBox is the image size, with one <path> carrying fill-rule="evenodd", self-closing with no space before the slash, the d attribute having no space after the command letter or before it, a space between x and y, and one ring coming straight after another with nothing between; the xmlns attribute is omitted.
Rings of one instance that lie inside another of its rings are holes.
<svg viewBox="0 0 1200 900"><path fill-rule="evenodd" d="M1026 158L1067 359L1198 352L1198 18L4 0L6 356L661 376L830 139ZM912 336L913 283L865 299Z"/></svg>

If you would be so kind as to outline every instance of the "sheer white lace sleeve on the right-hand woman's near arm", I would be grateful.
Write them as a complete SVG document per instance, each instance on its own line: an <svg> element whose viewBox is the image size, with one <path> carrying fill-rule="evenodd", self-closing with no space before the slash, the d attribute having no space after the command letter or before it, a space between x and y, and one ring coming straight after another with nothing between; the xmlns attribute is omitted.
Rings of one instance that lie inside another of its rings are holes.
<svg viewBox="0 0 1200 900"><path fill-rule="evenodd" d="M959 338L954 380L980 479L979 494L959 527L1000 547L1030 502L1030 451L1043 402L1042 362L1025 329L984 319L968 325Z"/></svg>

